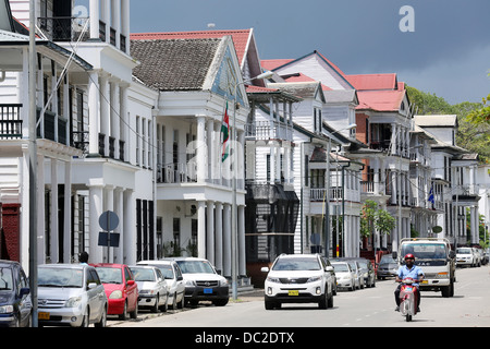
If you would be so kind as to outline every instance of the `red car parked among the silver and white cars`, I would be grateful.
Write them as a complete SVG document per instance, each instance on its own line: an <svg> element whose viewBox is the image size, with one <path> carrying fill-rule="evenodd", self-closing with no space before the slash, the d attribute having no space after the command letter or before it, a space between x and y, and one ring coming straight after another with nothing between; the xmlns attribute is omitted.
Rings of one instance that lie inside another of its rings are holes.
<svg viewBox="0 0 490 349"><path fill-rule="evenodd" d="M138 317L138 286L133 273L125 264L91 264L99 274L109 300L108 315L119 315L121 320Z"/></svg>

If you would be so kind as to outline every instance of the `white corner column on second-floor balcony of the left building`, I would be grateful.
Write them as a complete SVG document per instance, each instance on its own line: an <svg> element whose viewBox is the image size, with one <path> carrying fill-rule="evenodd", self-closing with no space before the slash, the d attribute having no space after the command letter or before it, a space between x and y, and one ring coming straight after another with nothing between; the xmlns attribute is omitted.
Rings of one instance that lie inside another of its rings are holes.
<svg viewBox="0 0 490 349"><path fill-rule="evenodd" d="M99 153L99 130L100 130L99 76L97 73L89 73L89 77L90 79L88 82L88 120L90 127L88 129L89 130L88 153L91 155L96 155Z"/></svg>

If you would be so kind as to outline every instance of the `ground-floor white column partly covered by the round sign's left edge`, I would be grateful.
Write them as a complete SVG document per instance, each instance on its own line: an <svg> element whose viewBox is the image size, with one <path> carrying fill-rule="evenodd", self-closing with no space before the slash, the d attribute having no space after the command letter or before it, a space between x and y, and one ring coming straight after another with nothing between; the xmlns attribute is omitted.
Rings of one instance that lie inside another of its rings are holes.
<svg viewBox="0 0 490 349"><path fill-rule="evenodd" d="M99 217L103 212L103 185L88 185L88 196L90 217L88 261L90 263L102 263L102 248L98 245L98 241L99 231L102 230L99 226Z"/></svg>

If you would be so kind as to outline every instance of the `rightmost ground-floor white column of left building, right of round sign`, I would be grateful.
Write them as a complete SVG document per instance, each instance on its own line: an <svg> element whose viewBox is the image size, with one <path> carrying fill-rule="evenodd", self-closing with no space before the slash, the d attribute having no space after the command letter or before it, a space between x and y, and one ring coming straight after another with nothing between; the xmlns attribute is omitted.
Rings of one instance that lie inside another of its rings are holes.
<svg viewBox="0 0 490 349"><path fill-rule="evenodd" d="M123 263L136 264L136 197L134 190L124 191L124 233L121 238L123 243Z"/></svg>

